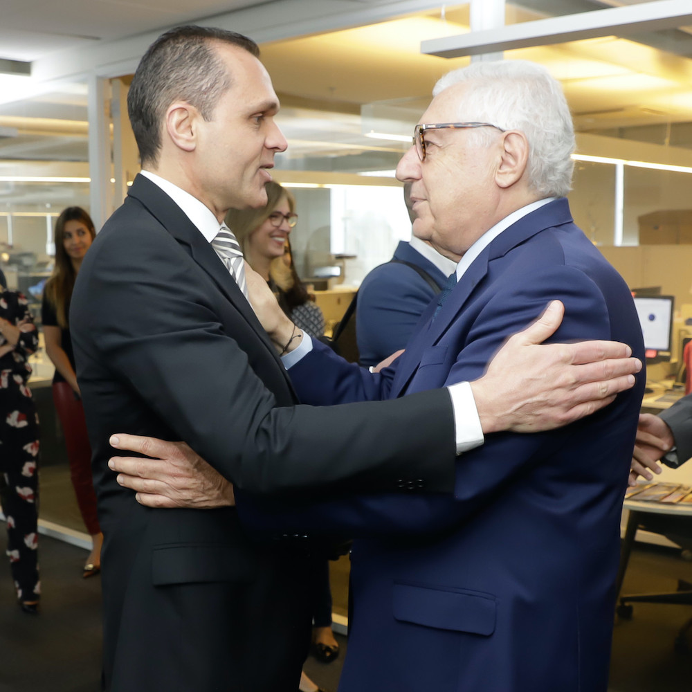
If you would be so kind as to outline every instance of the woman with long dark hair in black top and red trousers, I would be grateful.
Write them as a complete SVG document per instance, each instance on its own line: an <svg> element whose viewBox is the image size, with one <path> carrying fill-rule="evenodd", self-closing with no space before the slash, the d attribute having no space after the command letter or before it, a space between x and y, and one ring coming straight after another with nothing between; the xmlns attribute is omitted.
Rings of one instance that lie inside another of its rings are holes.
<svg viewBox="0 0 692 692"><path fill-rule="evenodd" d="M68 207L55 224L55 268L46 283L42 306L46 353L55 365L53 401L65 436L70 475L77 503L92 539L84 564L85 578L101 569L103 536L96 516L96 496L91 478L91 446L86 434L84 408L75 374L70 339L70 301L82 260L96 235L93 221L81 207Z"/></svg>

